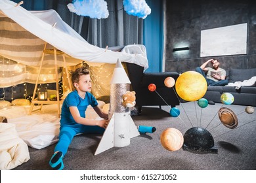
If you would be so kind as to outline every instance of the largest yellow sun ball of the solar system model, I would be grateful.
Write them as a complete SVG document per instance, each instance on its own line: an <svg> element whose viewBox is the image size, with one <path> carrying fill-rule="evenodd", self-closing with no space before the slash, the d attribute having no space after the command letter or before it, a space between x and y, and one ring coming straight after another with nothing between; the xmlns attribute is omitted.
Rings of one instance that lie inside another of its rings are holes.
<svg viewBox="0 0 256 183"><path fill-rule="evenodd" d="M200 73L187 71L177 78L175 88L185 101L197 101L205 95L207 82Z"/></svg>

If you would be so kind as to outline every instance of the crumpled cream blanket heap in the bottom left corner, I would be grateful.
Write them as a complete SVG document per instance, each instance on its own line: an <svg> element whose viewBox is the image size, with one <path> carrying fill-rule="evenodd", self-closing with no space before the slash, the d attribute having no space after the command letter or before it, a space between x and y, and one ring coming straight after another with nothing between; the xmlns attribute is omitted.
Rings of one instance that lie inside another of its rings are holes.
<svg viewBox="0 0 256 183"><path fill-rule="evenodd" d="M14 169L29 159L28 145L18 137L15 125L0 123L0 169Z"/></svg>

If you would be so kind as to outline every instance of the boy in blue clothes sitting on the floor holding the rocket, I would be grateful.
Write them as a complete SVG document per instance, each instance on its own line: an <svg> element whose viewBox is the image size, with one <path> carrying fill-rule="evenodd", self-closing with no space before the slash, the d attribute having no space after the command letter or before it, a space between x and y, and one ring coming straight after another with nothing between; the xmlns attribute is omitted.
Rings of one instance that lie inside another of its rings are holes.
<svg viewBox="0 0 256 183"><path fill-rule="evenodd" d="M72 73L75 90L68 94L62 104L60 116L60 134L54 154L49 162L53 169L63 169L64 158L75 135L79 133L103 133L108 125L108 114L102 112L91 92L91 78L85 68L77 68ZM85 118L85 110L91 105L103 120Z"/></svg>

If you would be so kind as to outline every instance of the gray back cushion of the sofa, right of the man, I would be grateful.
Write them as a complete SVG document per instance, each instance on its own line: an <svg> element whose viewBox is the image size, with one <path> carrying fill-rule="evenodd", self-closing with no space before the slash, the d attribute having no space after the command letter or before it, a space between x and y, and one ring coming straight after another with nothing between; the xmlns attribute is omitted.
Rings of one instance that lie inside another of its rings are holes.
<svg viewBox="0 0 256 183"><path fill-rule="evenodd" d="M229 82L244 81L256 76L256 68L253 69L230 69Z"/></svg>

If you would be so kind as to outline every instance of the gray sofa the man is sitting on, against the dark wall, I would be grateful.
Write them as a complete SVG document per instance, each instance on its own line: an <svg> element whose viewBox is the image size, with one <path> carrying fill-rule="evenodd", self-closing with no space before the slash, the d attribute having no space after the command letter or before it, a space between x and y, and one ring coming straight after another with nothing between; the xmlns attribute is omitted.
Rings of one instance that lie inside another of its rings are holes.
<svg viewBox="0 0 256 183"><path fill-rule="evenodd" d="M227 72L228 85L226 86L208 86L207 92L203 98L215 103L221 103L223 93L231 93L234 96L234 105L256 106L256 86L242 86L236 88L229 86L235 82L243 82L256 76L256 68L253 69L229 69Z"/></svg>

